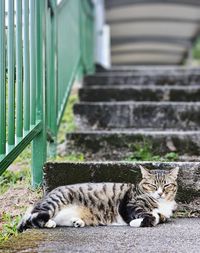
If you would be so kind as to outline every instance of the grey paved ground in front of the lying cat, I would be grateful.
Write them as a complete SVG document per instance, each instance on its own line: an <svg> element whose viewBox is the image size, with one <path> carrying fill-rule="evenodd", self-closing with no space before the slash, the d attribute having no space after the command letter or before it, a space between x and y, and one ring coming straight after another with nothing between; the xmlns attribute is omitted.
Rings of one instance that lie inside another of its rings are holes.
<svg viewBox="0 0 200 253"><path fill-rule="evenodd" d="M1 253L158 252L199 253L200 219L176 219L154 228L87 227L29 230Z"/></svg>

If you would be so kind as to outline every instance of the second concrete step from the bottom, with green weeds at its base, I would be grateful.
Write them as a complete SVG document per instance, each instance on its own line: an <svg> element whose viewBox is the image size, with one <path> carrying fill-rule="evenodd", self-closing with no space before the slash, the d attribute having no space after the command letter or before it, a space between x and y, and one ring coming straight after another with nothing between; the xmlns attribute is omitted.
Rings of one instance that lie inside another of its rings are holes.
<svg viewBox="0 0 200 253"><path fill-rule="evenodd" d="M200 158L200 131L80 131L67 134L66 140L60 154L74 150L86 160L125 160L136 146L148 146L159 156L176 152L179 160Z"/></svg>

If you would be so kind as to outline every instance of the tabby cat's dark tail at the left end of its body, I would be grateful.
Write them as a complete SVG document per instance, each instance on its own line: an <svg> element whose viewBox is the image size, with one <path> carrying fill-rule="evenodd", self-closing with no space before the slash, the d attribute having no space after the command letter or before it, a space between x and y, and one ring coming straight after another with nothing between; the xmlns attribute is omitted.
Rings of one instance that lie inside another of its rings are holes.
<svg viewBox="0 0 200 253"><path fill-rule="evenodd" d="M33 207L27 209L25 215L17 226L17 231L22 233L28 228L42 228L50 218L48 212L35 212Z"/></svg>

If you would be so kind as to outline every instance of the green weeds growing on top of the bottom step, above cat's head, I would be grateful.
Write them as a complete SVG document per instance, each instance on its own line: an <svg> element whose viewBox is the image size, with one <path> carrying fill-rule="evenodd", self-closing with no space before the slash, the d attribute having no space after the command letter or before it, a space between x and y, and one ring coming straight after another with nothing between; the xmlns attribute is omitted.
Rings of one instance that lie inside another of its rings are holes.
<svg viewBox="0 0 200 253"><path fill-rule="evenodd" d="M151 144L144 142L136 143L133 146L133 153L126 157L127 161L162 161L162 162L172 162L178 159L178 154L175 152L169 152L163 156L153 154Z"/></svg>

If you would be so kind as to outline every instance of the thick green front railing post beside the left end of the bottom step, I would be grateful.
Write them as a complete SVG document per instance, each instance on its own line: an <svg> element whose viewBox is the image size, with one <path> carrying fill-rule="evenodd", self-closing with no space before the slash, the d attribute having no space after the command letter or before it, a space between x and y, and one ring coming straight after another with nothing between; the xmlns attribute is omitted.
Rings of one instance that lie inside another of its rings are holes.
<svg viewBox="0 0 200 253"><path fill-rule="evenodd" d="M32 0L34 1L34 0ZM32 186L37 187L42 182L42 169L46 161L46 75L45 75L45 20L46 1L36 1L36 83L37 83L37 114L36 120L41 120L42 130L32 142Z"/></svg>

